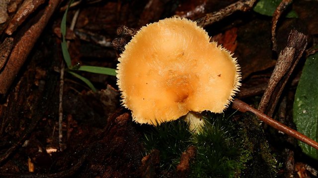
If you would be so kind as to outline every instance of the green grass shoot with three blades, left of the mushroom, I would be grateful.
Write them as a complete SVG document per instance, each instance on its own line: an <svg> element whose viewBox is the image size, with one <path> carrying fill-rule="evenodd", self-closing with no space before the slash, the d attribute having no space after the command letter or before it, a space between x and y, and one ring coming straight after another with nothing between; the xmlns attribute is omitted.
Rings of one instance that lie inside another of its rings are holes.
<svg viewBox="0 0 318 178"><path fill-rule="evenodd" d="M111 75L111 76L116 76L116 70L112 68L107 68L107 67L97 67L97 66L72 66L72 60L71 56L68 50L68 45L66 42L66 19L67 19L67 14L69 11L69 7L72 4L73 0L70 1L68 8L65 10L65 13L62 18L61 22L61 34L62 34L62 53L63 57L65 60L65 63L68 67L68 72L72 74L73 76L79 78L81 81L83 81L92 91L96 91L96 88L93 86L93 84L86 78L80 76L79 74L75 73L76 71L85 71L85 72L91 72L91 73L96 73L96 74L105 74L105 75Z"/></svg>

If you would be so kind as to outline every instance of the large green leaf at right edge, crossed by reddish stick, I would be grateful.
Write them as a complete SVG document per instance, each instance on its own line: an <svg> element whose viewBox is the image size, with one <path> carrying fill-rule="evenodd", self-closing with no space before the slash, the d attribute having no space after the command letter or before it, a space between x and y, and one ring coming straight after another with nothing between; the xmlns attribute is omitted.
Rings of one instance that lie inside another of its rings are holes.
<svg viewBox="0 0 318 178"><path fill-rule="evenodd" d="M310 55L295 94L293 118L297 130L318 140L318 53ZM318 150L299 142L303 152L318 159Z"/></svg>

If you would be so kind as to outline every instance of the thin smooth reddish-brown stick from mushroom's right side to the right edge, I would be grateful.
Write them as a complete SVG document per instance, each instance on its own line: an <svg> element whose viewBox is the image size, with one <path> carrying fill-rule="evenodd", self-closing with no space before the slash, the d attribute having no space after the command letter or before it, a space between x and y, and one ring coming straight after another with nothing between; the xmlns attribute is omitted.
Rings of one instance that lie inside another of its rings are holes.
<svg viewBox="0 0 318 178"><path fill-rule="evenodd" d="M318 143L309 138L308 136L301 134L298 131L295 131L294 129L291 129L287 126L285 126L284 124L270 118L269 116L267 116L266 114L260 112L259 110L249 106L248 104L246 104L245 102L239 100L239 99L235 99L233 101L233 105L232 105L233 109L239 110L240 112L247 112L250 111L252 113L254 113L259 120L263 121L264 123L268 124L269 126L277 129L278 131L281 131L285 134L288 134L312 147L314 147L315 149L318 150Z"/></svg>

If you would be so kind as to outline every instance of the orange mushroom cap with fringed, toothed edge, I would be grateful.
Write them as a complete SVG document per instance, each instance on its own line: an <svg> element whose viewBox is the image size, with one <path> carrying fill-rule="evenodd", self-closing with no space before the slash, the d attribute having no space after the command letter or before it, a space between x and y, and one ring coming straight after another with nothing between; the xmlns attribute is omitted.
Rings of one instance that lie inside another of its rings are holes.
<svg viewBox="0 0 318 178"><path fill-rule="evenodd" d="M210 43L207 32L191 20L172 17L148 24L118 59L122 103L141 124L157 125L189 112L222 113L240 86L232 56Z"/></svg>

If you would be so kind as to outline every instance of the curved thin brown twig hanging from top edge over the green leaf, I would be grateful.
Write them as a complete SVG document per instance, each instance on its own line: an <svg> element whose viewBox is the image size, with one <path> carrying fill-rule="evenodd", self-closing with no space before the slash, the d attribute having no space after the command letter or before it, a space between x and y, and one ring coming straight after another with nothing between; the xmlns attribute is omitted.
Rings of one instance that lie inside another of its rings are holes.
<svg viewBox="0 0 318 178"><path fill-rule="evenodd" d="M282 15L282 13L285 11L287 6L291 4L293 0L282 0L278 7L276 8L273 18L272 18L272 42L273 42L273 50L277 51L277 40L276 40L276 25L278 22L278 19Z"/></svg>

